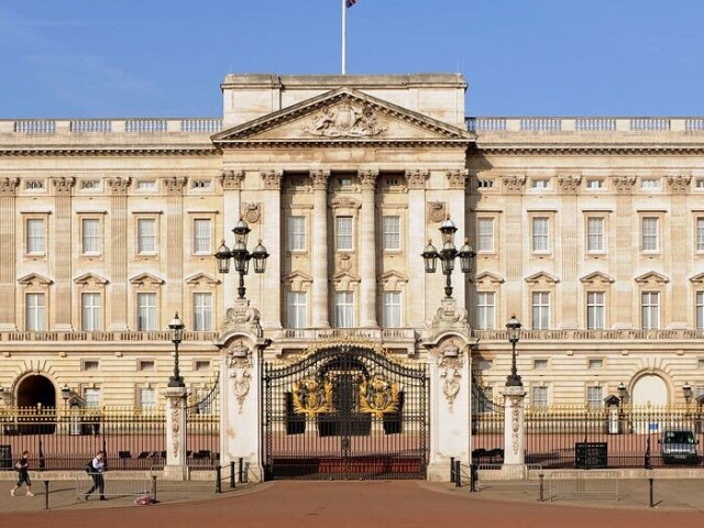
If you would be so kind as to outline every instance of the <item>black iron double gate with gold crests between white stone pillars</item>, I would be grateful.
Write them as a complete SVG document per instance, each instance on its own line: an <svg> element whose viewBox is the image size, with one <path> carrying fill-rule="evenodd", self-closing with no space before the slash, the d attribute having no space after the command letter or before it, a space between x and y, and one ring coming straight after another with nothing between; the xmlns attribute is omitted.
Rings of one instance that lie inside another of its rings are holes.
<svg viewBox="0 0 704 528"><path fill-rule="evenodd" d="M263 369L264 472L271 479L425 479L425 363L374 348L318 346Z"/></svg>

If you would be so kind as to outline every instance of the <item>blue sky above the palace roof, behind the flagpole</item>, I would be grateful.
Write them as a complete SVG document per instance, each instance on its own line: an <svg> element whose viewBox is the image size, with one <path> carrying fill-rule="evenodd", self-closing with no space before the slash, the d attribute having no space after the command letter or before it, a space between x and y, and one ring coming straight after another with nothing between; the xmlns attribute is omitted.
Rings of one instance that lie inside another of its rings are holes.
<svg viewBox="0 0 704 528"><path fill-rule="evenodd" d="M340 0L0 0L0 118L219 116L339 74ZM348 73L460 72L470 116L703 116L703 0L359 0Z"/></svg>

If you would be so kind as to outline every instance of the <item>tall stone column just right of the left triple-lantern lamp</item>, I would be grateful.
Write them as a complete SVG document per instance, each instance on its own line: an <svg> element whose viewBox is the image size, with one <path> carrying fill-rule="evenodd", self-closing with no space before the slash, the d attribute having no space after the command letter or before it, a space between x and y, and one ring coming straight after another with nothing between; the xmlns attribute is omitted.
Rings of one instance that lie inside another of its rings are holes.
<svg viewBox="0 0 704 528"><path fill-rule="evenodd" d="M282 260L279 255L282 246L282 179L283 170L265 170L262 173L264 180L264 199L261 208L260 222L262 224L262 243L270 248L268 252L274 256L266 260L266 272L263 275L255 275L261 278L258 306L268 306L264 310L262 327L265 329L282 328ZM245 219L246 220L246 219ZM252 234L250 233L250 237ZM250 251L254 250L258 240L249 243ZM250 268L250 274L254 271ZM254 277L251 278L252 282ZM252 297L254 298L254 297Z"/></svg>

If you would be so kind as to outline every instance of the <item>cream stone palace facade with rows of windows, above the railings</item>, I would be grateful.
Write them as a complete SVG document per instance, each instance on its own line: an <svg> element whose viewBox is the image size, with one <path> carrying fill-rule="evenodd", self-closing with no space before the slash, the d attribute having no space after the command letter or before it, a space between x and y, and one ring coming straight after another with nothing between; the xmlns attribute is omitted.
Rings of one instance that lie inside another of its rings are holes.
<svg viewBox="0 0 704 528"><path fill-rule="evenodd" d="M499 397L524 324L528 404L704 393L704 119L468 118L460 75L228 75L218 119L0 121L6 405L160 405L168 321L194 397L220 370L243 218L264 354L371 339L427 361L448 216L476 251L452 276L474 382Z"/></svg>

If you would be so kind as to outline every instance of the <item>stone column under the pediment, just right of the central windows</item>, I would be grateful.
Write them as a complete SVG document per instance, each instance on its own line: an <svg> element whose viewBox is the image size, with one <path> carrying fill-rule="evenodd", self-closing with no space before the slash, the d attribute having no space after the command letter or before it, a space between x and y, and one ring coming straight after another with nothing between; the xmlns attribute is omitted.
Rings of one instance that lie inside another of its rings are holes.
<svg viewBox="0 0 704 528"><path fill-rule="evenodd" d="M378 327L376 318L376 219L374 191L378 170L360 170L362 208L360 212L360 326Z"/></svg>

